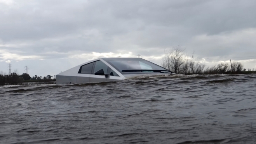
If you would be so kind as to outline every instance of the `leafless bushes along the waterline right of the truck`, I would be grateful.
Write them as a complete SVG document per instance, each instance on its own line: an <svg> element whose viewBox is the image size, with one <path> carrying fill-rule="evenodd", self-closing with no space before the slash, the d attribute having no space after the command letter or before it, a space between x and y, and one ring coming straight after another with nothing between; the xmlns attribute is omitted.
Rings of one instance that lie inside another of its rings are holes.
<svg viewBox="0 0 256 144"><path fill-rule="evenodd" d="M240 62L220 63L217 66L206 67L202 62L193 60L194 54L188 56L184 49L180 47L172 48L165 51L165 56L162 58L161 66L169 69L177 74L193 75L193 74L242 74L254 73L251 69L243 68Z"/></svg>

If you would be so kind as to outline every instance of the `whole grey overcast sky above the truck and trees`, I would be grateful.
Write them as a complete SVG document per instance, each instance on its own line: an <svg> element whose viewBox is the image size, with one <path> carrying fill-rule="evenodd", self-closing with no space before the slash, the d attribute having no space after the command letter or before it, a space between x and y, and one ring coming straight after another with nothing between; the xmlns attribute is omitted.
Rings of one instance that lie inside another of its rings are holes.
<svg viewBox="0 0 256 144"><path fill-rule="evenodd" d="M256 0L0 0L0 71L56 75L98 57L160 65L165 49L256 69Z"/></svg>

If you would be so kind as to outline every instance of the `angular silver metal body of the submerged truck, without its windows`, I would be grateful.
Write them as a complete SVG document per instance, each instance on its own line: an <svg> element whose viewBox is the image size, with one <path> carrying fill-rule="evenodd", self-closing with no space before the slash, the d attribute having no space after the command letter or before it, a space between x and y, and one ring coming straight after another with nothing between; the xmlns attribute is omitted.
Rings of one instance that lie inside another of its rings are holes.
<svg viewBox="0 0 256 144"><path fill-rule="evenodd" d="M96 82L110 82L110 81L120 81L120 80L125 80L129 78L134 78L136 76L141 76L141 75L166 75L164 73L154 73L154 74L124 74L120 73L116 68L111 66L107 61L107 59L139 59L139 58L99 58L95 59L89 62L85 62L83 64L80 64L74 68L68 69L62 73L59 73L56 75L56 84L68 84L68 83L96 83ZM143 59L144 60L144 59ZM118 76L112 76L112 75L94 75L94 74L83 74L83 73L78 73L80 70L81 66L84 66L86 64L90 64L92 62L96 61L102 61L106 66L111 68Z"/></svg>

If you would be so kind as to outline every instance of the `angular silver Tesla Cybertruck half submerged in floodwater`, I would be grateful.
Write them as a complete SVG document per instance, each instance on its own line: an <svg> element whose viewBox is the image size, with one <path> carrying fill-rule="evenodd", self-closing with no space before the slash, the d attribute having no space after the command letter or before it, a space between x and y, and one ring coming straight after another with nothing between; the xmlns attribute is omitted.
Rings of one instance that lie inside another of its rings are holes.
<svg viewBox="0 0 256 144"><path fill-rule="evenodd" d="M56 75L56 84L119 81L141 75L173 74L142 58L99 58Z"/></svg>

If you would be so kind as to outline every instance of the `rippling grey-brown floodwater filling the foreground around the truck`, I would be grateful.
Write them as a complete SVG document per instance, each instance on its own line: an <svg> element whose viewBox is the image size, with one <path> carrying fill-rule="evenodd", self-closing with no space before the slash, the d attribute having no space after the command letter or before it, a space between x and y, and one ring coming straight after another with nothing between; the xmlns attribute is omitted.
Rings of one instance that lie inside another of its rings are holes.
<svg viewBox="0 0 256 144"><path fill-rule="evenodd" d="M256 75L0 87L1 144L255 144Z"/></svg>

